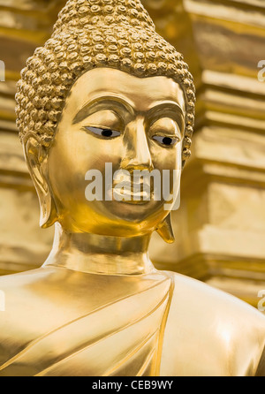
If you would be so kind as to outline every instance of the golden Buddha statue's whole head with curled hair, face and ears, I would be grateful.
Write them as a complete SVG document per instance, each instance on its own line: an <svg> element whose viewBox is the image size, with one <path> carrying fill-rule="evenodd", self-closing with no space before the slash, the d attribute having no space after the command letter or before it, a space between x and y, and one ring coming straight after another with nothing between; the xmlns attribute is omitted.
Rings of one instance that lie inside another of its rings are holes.
<svg viewBox="0 0 265 394"><path fill-rule="evenodd" d="M180 174L194 122L187 68L139 0L67 2L51 39L27 60L16 95L42 227L125 237L157 230L172 240L163 196L87 201L86 174L104 177L106 163L130 175Z"/></svg>

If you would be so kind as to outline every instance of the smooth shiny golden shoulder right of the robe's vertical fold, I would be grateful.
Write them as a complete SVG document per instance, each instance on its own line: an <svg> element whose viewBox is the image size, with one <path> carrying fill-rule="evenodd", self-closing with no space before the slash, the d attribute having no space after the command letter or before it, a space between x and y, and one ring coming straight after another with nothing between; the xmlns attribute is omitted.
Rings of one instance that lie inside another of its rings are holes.
<svg viewBox="0 0 265 394"><path fill-rule="evenodd" d="M255 375L265 345L265 316L208 284L171 275L174 289L163 344L163 357L174 354L170 373Z"/></svg>

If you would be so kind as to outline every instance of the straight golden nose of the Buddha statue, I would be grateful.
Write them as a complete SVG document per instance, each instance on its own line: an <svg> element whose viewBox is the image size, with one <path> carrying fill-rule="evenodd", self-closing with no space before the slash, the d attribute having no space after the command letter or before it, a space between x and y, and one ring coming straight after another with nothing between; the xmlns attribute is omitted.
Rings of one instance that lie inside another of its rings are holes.
<svg viewBox="0 0 265 394"><path fill-rule="evenodd" d="M154 170L144 123L144 118L138 117L126 126L123 170Z"/></svg>

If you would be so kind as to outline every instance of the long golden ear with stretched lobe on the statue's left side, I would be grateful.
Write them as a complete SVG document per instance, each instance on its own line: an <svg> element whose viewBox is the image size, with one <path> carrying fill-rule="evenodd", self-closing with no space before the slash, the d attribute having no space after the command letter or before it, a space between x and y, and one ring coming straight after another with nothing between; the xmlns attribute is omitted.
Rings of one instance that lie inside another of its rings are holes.
<svg viewBox="0 0 265 394"><path fill-rule="evenodd" d="M57 222L57 208L49 190L47 149L39 138L28 133L23 141L27 167L40 202L40 226L45 229Z"/></svg>

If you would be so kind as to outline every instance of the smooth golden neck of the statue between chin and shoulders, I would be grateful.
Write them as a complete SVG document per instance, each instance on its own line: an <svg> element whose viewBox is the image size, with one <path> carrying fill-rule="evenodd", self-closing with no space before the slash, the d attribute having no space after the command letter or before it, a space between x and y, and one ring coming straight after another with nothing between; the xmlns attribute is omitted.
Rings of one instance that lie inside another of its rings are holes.
<svg viewBox="0 0 265 394"><path fill-rule="evenodd" d="M148 257L150 235L123 238L68 233L56 224L55 239L43 266L107 275L140 275L154 270Z"/></svg>

